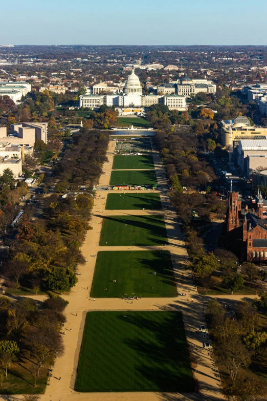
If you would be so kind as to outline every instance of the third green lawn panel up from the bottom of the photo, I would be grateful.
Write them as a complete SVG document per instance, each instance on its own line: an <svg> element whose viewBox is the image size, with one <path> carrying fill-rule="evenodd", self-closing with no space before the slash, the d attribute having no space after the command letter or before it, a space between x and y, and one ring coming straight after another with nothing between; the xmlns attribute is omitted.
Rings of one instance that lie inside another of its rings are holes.
<svg viewBox="0 0 267 401"><path fill-rule="evenodd" d="M163 216L105 216L100 246L167 245Z"/></svg>

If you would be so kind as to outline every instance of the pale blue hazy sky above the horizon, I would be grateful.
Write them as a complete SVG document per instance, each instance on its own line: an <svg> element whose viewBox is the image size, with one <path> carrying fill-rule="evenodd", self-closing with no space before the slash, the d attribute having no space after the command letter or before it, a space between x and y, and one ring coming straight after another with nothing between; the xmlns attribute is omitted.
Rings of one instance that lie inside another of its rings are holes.
<svg viewBox="0 0 267 401"><path fill-rule="evenodd" d="M266 0L3 0L1 14L2 45L267 45Z"/></svg>

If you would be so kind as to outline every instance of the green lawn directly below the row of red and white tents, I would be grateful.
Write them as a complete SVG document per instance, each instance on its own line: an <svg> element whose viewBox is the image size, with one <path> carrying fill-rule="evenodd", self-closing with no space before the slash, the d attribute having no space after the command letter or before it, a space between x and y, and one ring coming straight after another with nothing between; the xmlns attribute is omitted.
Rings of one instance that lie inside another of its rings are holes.
<svg viewBox="0 0 267 401"><path fill-rule="evenodd" d="M162 208L159 194L140 191L138 194L108 194L106 200L107 210L137 210Z"/></svg>

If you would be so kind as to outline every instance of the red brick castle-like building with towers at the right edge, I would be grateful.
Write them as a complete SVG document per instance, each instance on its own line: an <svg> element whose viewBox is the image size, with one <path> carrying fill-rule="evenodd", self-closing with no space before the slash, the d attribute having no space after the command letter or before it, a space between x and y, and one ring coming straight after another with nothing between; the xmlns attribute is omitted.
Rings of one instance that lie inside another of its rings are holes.
<svg viewBox="0 0 267 401"><path fill-rule="evenodd" d="M261 194L257 196L256 212L247 205L241 208L237 192L229 194L227 243L229 248L238 250L243 261L267 260L267 215Z"/></svg>

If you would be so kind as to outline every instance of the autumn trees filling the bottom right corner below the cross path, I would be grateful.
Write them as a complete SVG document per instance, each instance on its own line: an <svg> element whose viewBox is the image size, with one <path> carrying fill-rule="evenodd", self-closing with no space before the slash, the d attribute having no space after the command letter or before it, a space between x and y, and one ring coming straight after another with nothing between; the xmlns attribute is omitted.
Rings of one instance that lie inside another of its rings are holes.
<svg viewBox="0 0 267 401"><path fill-rule="evenodd" d="M206 318L213 340L215 363L221 368L222 392L228 400L266 398L265 380L251 370L252 365L260 366L262 361L266 361L267 333L262 330L256 311L259 304L263 304L266 311L266 300L266 294L262 294L255 307L248 301L237 302L235 313L227 311L217 300L208 304Z"/></svg>

